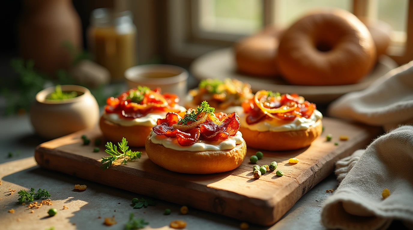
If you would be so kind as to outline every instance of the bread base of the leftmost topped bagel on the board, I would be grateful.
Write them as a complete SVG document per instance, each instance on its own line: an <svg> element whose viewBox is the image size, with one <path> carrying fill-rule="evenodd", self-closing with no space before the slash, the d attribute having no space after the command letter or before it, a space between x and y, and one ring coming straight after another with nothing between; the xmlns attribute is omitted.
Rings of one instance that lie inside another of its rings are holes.
<svg viewBox="0 0 413 230"><path fill-rule="evenodd" d="M121 142L122 138L126 138L128 146L142 147L145 146L146 137L150 134L152 126L133 125L121 126L114 124L102 117L99 122L100 130L103 136L114 143Z"/></svg>

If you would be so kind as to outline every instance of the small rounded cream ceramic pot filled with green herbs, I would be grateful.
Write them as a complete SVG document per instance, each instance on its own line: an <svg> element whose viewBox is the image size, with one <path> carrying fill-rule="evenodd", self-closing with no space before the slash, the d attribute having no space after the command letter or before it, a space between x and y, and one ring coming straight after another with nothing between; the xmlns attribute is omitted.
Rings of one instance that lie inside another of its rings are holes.
<svg viewBox="0 0 413 230"><path fill-rule="evenodd" d="M36 94L30 110L30 120L36 133L48 139L58 138L93 128L99 120L99 106L95 97L85 87L62 85L62 91L76 91L80 96L64 100L47 100L55 87L43 89Z"/></svg>

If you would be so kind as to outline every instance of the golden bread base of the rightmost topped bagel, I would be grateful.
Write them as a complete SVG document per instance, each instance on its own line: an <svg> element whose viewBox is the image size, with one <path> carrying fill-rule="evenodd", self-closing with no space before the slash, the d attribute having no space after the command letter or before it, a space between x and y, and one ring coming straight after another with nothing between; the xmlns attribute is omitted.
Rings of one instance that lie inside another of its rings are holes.
<svg viewBox="0 0 413 230"><path fill-rule="evenodd" d="M270 151L294 150L311 145L323 130L321 120L306 130L284 132L259 132L245 127L240 127L242 138L248 147Z"/></svg>

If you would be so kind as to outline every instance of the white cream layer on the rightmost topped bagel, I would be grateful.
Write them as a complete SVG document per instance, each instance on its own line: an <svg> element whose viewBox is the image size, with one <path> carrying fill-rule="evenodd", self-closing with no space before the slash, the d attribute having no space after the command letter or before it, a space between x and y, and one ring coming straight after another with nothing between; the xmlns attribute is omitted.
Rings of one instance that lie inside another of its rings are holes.
<svg viewBox="0 0 413 230"><path fill-rule="evenodd" d="M247 124L246 115L242 113L240 116L241 127L248 128L255 131L265 132L283 132L283 131L296 131L306 130L311 125L316 124L318 120L323 119L323 115L318 110L314 110L313 114L309 118L295 117L293 121L285 122L276 119L265 119L255 124Z"/></svg>

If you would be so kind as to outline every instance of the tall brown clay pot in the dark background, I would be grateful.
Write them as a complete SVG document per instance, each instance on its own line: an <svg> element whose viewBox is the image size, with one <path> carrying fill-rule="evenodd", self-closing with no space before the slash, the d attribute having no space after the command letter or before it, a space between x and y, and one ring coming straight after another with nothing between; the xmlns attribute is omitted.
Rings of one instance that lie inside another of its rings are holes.
<svg viewBox="0 0 413 230"><path fill-rule="evenodd" d="M71 0L25 0L19 22L20 55L33 59L35 68L55 74L68 69L72 57L64 42L82 46L81 21Z"/></svg>

